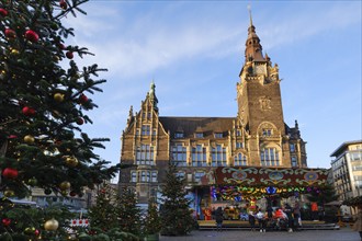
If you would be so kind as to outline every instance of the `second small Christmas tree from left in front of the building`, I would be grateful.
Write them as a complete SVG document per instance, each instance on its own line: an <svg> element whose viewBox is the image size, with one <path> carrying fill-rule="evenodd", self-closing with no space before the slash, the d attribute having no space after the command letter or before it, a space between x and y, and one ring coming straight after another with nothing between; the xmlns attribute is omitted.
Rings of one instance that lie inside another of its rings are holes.
<svg viewBox="0 0 362 241"><path fill-rule="evenodd" d="M116 196L115 214L117 227L124 232L140 234L140 209L137 207L137 196L135 191L123 187Z"/></svg>

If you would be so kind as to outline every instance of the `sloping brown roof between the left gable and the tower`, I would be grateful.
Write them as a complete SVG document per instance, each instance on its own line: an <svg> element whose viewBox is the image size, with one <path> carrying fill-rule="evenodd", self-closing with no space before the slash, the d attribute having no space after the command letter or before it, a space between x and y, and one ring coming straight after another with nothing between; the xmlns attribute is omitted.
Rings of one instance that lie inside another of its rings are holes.
<svg viewBox="0 0 362 241"><path fill-rule="evenodd" d="M228 133L233 129L234 117L159 117L166 131L170 131L171 137L180 129L183 130L184 138L192 138L195 133L204 134L204 137L213 136L214 133Z"/></svg>

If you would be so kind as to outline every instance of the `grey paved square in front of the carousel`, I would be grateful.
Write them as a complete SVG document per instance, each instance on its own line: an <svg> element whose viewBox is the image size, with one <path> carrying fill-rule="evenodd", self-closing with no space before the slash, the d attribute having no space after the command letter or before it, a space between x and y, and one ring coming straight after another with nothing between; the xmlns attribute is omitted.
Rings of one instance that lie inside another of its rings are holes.
<svg viewBox="0 0 362 241"><path fill-rule="evenodd" d="M340 230L303 230L297 232L259 232L247 230L193 231L185 237L160 236L160 241L361 241L360 234L350 228Z"/></svg>

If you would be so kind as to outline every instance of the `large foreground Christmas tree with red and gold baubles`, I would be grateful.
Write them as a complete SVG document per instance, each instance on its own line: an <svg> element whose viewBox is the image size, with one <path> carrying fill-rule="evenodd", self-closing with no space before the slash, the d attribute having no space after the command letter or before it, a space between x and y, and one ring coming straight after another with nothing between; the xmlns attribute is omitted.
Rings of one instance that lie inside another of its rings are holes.
<svg viewBox="0 0 362 241"><path fill-rule="evenodd" d="M81 196L120 168L108 167L94 152L108 139L81 129L92 123L87 112L98 107L91 95L102 91L105 80L98 78L105 69L77 66L75 57L91 53L67 44L75 34L61 20L84 13L86 1L0 2L0 192L5 197L31 195L30 186ZM23 233L19 220L9 217L10 206L1 205L1 232ZM53 231L64 223L50 218L34 226Z"/></svg>

